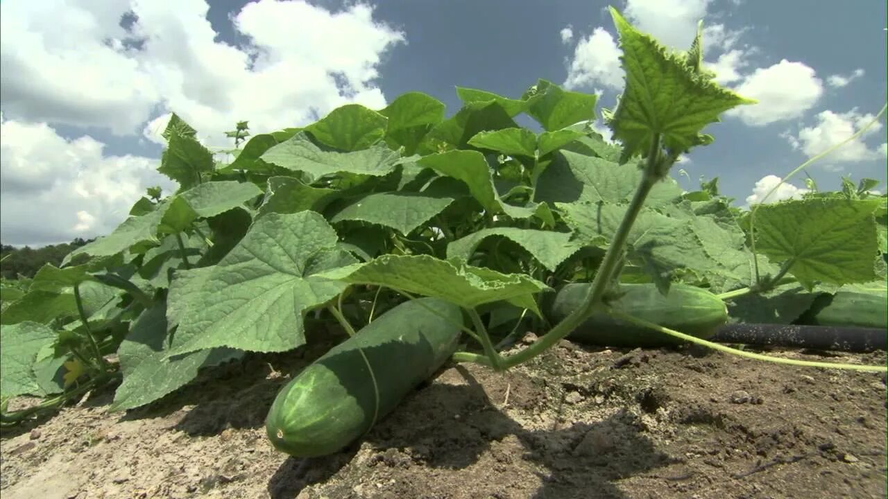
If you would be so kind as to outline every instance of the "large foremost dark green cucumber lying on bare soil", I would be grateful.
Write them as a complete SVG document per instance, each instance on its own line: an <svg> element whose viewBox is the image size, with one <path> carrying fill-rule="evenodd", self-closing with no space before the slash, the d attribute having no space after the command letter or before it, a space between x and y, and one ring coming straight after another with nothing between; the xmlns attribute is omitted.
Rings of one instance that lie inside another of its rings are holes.
<svg viewBox="0 0 888 499"><path fill-rule="evenodd" d="M436 298L383 313L278 392L266 417L272 445L296 457L345 448L456 352L462 324L460 308Z"/></svg>

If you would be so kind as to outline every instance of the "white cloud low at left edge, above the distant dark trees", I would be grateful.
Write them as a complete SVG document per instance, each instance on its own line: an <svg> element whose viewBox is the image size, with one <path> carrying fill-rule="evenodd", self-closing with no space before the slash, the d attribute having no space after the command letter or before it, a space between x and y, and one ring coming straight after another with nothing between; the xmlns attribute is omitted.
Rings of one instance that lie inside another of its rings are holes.
<svg viewBox="0 0 888 499"><path fill-rule="evenodd" d="M2 118L0 118L2 119ZM103 155L104 144L64 139L45 123L0 121L0 233L44 245L107 234L148 186L175 190L152 158Z"/></svg>

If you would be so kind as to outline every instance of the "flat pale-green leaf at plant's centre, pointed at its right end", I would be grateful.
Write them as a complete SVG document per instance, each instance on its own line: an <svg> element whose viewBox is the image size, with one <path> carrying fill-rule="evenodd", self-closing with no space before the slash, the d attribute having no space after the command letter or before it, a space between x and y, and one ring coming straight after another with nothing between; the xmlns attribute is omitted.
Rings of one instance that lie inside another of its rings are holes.
<svg viewBox="0 0 888 499"><path fill-rule="evenodd" d="M367 194L338 210L329 220L361 220L392 227L407 235L447 208L453 198L429 197L416 193Z"/></svg>

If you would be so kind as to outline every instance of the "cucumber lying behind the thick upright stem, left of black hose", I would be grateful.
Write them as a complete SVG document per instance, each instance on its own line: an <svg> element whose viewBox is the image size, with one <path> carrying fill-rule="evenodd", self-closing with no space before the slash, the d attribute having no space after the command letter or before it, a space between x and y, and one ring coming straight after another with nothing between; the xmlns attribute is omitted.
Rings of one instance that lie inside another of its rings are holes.
<svg viewBox="0 0 888 499"><path fill-rule="evenodd" d="M560 289L547 311L550 321L561 321L579 308L589 286L591 284L575 283ZM706 289L672 284L665 297L651 283L621 284L620 289L625 295L610 303L613 308L680 333L706 339L727 323L725 302ZM603 312L594 313L568 337L587 345L603 346L654 347L682 343L676 337L619 321Z"/></svg>

